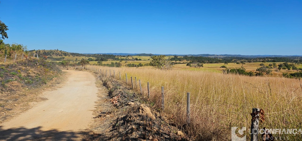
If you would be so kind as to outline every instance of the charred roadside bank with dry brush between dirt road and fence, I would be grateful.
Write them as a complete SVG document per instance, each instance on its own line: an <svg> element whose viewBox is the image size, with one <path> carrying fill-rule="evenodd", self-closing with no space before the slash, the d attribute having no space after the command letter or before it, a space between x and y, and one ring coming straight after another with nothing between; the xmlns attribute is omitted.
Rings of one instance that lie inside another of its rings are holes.
<svg viewBox="0 0 302 141"><path fill-rule="evenodd" d="M98 80L108 89L107 105L97 107L95 125L85 140L188 140L160 113L148 106L127 85L100 74Z"/></svg>

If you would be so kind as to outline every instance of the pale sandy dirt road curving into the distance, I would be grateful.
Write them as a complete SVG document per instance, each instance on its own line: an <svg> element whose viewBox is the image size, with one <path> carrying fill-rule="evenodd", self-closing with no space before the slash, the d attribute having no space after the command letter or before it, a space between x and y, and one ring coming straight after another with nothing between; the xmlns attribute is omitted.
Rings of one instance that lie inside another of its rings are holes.
<svg viewBox="0 0 302 141"><path fill-rule="evenodd" d="M0 124L0 140L78 140L92 121L97 100L94 76L66 70L68 79L48 99Z"/></svg>

